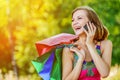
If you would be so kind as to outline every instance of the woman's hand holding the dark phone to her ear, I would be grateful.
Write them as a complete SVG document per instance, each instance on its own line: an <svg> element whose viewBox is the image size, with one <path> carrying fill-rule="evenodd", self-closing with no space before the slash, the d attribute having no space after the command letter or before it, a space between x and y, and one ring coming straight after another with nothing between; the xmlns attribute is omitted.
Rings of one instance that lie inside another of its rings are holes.
<svg viewBox="0 0 120 80"><path fill-rule="evenodd" d="M88 28L88 31L86 31L84 29L85 33L87 34L86 44L93 44L93 39L94 39L94 36L95 36L96 27L93 23L88 22L87 23L87 28Z"/></svg>

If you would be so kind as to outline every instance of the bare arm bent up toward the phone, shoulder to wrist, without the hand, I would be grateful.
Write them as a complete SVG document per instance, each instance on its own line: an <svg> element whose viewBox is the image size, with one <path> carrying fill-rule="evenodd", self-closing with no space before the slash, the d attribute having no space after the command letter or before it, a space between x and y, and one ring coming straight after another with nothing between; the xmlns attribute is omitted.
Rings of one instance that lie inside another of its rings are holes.
<svg viewBox="0 0 120 80"><path fill-rule="evenodd" d="M98 55L94 44L87 44L87 47L101 77L107 77L111 66L112 42L110 40L102 41L102 58Z"/></svg>

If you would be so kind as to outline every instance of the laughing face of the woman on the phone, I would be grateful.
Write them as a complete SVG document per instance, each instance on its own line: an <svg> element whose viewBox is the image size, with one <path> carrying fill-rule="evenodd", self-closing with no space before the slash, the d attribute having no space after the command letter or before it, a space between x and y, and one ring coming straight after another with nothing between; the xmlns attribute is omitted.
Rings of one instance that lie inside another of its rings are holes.
<svg viewBox="0 0 120 80"><path fill-rule="evenodd" d="M77 10L72 16L72 28L76 35L83 34L83 26L89 21L85 10Z"/></svg>

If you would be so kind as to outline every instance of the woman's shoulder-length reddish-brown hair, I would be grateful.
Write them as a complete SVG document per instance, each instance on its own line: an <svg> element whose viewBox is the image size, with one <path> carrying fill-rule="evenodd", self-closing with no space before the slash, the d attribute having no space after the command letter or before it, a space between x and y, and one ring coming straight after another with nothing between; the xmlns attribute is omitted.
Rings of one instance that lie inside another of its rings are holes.
<svg viewBox="0 0 120 80"><path fill-rule="evenodd" d="M74 12L76 12L78 10L85 10L87 12L87 17L88 17L89 21L91 21L96 26L94 40L97 40L97 41L105 40L108 37L109 32L108 32L107 28L100 21L96 12L88 6L82 6L82 7L78 7L76 9L74 9L72 12L72 16L73 16Z"/></svg>

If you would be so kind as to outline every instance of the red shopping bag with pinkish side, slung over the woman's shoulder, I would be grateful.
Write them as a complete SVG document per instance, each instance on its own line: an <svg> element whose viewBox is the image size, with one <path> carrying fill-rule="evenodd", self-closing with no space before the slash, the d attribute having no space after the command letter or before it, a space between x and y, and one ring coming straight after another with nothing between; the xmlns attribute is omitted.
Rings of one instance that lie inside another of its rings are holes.
<svg viewBox="0 0 120 80"><path fill-rule="evenodd" d="M77 36L68 33L61 33L50 38L44 39L42 41L36 42L36 48L38 51L39 56L43 55L44 53L50 51L56 45L59 44L69 44L72 40L76 39Z"/></svg>

